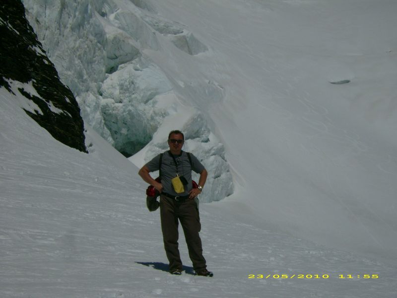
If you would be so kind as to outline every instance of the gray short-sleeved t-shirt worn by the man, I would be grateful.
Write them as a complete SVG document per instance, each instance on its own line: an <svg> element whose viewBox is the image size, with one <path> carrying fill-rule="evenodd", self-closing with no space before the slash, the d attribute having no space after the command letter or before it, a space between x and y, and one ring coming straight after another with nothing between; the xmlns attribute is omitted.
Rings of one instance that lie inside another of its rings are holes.
<svg viewBox="0 0 397 298"><path fill-rule="evenodd" d="M174 155L175 160L178 164L178 168L175 166L174 159L171 157L169 151L164 152L163 159L161 162L161 184L163 185L163 191L173 195L173 196L187 196L189 191L192 189L192 170L196 173L201 173L204 170L204 166L201 164L199 159L192 153L190 153L190 157L192 158L192 166L190 166L190 161L188 157L188 153L182 151L181 155ZM145 165L149 169L150 172L154 172L159 170L159 161L160 154L155 156L152 160L150 160ZM172 187L171 179L177 176L184 176L186 181L188 181L188 185L185 185L185 192L177 194Z"/></svg>

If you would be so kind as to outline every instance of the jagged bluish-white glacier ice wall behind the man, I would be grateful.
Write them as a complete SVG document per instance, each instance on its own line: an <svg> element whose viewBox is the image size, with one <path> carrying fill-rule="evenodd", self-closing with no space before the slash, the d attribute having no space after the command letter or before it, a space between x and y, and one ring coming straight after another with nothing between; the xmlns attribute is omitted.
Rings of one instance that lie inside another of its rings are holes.
<svg viewBox="0 0 397 298"><path fill-rule="evenodd" d="M167 118L172 118L174 121L171 126L166 125L169 130L163 137L184 127L184 132L190 131L187 139L192 153L203 157L209 154L202 162L212 170L207 188L213 191L206 192L202 200L218 201L233 192L222 144L214 141L214 137L209 139L208 133L200 135L209 131L200 110L181 99L173 86L180 86L179 83L170 81L150 55L144 54L144 50L160 51L163 44L179 55L180 50L189 54L188 59L207 51L192 32L154 13L153 6L144 1L23 2L49 57L75 94L85 123L120 152L131 156L152 141L163 123L170 123L165 121ZM204 90L213 89L215 93L210 92L222 96L218 86L206 85ZM211 94L202 96L210 99ZM174 117L183 113L191 118ZM191 124L196 121L194 126L199 130L192 132L181 118ZM205 144L200 145L199 140ZM165 144L157 145L166 149L166 138L161 142ZM202 148L205 149L199 151ZM152 157L143 156L145 160Z"/></svg>

